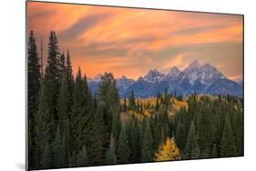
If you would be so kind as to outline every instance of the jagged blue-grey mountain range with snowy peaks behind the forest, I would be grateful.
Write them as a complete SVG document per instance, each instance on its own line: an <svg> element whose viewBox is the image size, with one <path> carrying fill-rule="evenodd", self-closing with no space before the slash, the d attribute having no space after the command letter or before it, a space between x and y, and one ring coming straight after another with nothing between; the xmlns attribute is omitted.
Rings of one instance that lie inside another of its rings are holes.
<svg viewBox="0 0 256 171"><path fill-rule="evenodd" d="M88 78L88 86L96 94L101 83L101 75ZM131 90L136 97L157 96L167 88L169 94L186 96L192 93L207 95L241 96L242 86L234 82L213 65L200 65L198 59L193 60L183 71L173 66L168 74L162 74L157 69L151 69L138 80L123 75L117 78L117 88L120 97L128 97Z"/></svg>

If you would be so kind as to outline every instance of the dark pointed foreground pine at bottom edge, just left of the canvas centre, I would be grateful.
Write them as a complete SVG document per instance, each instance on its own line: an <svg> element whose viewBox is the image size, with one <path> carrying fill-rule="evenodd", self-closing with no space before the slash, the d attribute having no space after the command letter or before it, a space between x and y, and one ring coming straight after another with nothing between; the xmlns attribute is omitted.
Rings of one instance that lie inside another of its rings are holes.
<svg viewBox="0 0 256 171"><path fill-rule="evenodd" d="M128 146L128 135L125 126L122 126L118 136L117 161L118 164L129 162L130 147Z"/></svg>

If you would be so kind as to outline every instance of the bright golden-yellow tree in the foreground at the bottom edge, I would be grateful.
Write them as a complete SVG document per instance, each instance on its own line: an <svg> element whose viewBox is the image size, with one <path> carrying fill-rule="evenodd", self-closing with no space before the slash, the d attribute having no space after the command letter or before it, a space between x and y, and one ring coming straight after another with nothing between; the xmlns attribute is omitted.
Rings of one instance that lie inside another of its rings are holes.
<svg viewBox="0 0 256 171"><path fill-rule="evenodd" d="M174 138L167 138L163 146L159 146L159 150L155 155L155 161L178 160L180 158L179 148L175 145Z"/></svg>

